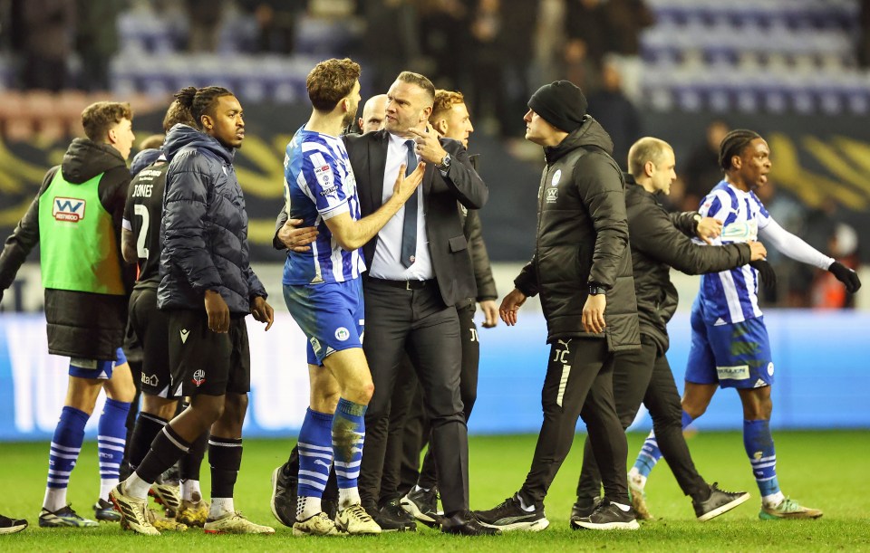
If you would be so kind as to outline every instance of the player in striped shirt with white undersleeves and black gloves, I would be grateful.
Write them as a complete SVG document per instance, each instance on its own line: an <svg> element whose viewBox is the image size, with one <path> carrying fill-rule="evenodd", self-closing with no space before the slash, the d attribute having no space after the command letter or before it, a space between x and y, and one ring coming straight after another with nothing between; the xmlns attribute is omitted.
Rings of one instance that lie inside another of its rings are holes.
<svg viewBox="0 0 870 553"><path fill-rule="evenodd" d="M771 167L764 138L751 130L732 130L722 139L719 160L725 179L704 197L699 210L701 216L722 222L719 243L760 238L798 262L832 272L850 293L861 287L854 271L779 226L755 195L767 184ZM736 388L743 404L743 445L761 492L759 519L817 519L821 510L786 497L777 481L777 454L770 433L774 365L759 309L759 276L765 284L776 280L770 265L758 262L701 277L701 290L691 307L682 426L703 415L717 388ZM635 501L643 501L646 477L660 457L650 434L629 471Z"/></svg>

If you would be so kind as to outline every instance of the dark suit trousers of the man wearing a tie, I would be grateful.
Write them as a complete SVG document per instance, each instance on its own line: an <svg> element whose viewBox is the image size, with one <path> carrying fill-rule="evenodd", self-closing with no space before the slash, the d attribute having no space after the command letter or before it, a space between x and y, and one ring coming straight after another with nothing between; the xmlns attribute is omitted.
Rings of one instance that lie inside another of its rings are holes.
<svg viewBox="0 0 870 553"><path fill-rule="evenodd" d="M374 381L365 413L365 449L360 468L363 505L381 497L393 386L407 351L423 388L431 424L435 462L442 476L441 503L446 513L469 508L469 437L459 397L461 341L456 309L446 307L432 281L420 290L404 290L366 279L366 329L362 348Z"/></svg>

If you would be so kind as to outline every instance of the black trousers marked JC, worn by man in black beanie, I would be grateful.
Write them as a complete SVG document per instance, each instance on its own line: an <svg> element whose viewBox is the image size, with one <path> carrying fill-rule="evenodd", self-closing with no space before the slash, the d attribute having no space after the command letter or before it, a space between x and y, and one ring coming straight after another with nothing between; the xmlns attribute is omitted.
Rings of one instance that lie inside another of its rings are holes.
<svg viewBox="0 0 870 553"><path fill-rule="evenodd" d="M527 504L543 503L571 450L581 416L601 470L604 497L628 503L628 443L614 405L614 358L606 341L599 338L566 338L552 344L541 390L544 424L537 435L532 467L519 491Z"/></svg>

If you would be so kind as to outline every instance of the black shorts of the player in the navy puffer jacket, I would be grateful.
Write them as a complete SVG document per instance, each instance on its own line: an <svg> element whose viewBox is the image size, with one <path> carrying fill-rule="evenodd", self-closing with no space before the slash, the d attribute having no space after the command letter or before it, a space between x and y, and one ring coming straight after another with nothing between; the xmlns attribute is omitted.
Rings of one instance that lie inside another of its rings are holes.
<svg viewBox="0 0 870 553"><path fill-rule="evenodd" d="M169 367L174 396L247 394L251 389L251 348L244 317L229 321L229 332L208 329L205 311L171 310Z"/></svg>

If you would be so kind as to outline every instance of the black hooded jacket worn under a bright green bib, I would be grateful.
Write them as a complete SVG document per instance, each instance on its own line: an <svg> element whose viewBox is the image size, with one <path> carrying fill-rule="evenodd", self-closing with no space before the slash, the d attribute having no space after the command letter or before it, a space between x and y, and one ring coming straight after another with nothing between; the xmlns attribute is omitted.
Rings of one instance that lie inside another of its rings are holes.
<svg viewBox="0 0 870 553"><path fill-rule="evenodd" d="M121 219L130 172L118 150L87 138L75 138L63 155L61 165L49 169L34 202L13 234L6 239L0 254L0 291L9 288L27 255L39 243L39 199L58 170L63 179L73 185L81 185L102 174L98 195L102 207L111 214L115 231L116 247L110 253L114 257L110 262L119 264L125 287L130 291L132 274L121 261ZM56 261L43 259L42 262ZM49 353L71 358L114 360L127 324L127 298L46 288L45 319Z"/></svg>

